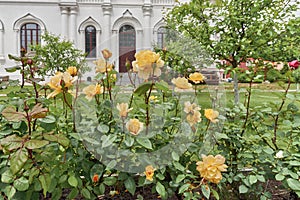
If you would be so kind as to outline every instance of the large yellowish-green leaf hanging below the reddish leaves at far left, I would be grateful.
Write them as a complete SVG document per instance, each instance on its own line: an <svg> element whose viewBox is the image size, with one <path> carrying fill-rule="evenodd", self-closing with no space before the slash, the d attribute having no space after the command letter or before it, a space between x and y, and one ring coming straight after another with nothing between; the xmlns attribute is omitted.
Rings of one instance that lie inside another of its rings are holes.
<svg viewBox="0 0 300 200"><path fill-rule="evenodd" d="M10 158L10 169L13 174L18 173L26 161L28 160L28 151L25 148L18 149L16 152L11 154Z"/></svg>

